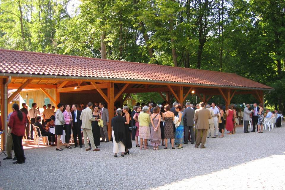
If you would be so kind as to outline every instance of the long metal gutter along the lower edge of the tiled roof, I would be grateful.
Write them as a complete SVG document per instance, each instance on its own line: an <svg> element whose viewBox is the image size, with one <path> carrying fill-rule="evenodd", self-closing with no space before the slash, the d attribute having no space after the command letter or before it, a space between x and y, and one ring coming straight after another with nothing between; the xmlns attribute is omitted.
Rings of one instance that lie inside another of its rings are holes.
<svg viewBox="0 0 285 190"><path fill-rule="evenodd" d="M31 74L10 74L10 73L0 73L0 76L3 77L26 77L26 78L42 78L42 79L73 79L73 80L115 80L115 81L124 81L124 82L145 82L145 83L167 83L173 85L195 85L195 86L205 86L205 87L221 87L221 88L234 88L241 90L264 90L270 91L274 90L274 88L248 88L248 87L240 87L240 86L228 86L228 85L208 85L208 84L199 84L199 83L180 83L180 82L171 82L171 81L160 81L160 80L139 80L139 79L121 79L121 78L106 78L106 77L74 77L74 76L61 76L61 75L31 75Z"/></svg>

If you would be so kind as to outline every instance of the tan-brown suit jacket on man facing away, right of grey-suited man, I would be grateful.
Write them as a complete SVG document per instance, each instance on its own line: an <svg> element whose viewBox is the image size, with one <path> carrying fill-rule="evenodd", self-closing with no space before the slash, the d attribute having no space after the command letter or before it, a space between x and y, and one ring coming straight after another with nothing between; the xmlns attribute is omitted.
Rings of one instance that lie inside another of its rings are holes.
<svg viewBox="0 0 285 190"><path fill-rule="evenodd" d="M200 108L195 111L194 121L196 129L209 129L209 119L212 115L206 108Z"/></svg>

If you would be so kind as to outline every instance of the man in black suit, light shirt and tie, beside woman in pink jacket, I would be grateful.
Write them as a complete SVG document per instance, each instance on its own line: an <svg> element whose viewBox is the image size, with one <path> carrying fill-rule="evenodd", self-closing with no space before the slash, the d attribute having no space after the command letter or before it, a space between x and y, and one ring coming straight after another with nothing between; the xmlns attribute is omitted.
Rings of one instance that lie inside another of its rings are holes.
<svg viewBox="0 0 285 190"><path fill-rule="evenodd" d="M82 135L81 135L81 124L82 121L79 119L81 115L81 111L77 110L77 104L72 105L72 133L74 140L74 148L77 147L77 136L79 141L79 147L82 148Z"/></svg>

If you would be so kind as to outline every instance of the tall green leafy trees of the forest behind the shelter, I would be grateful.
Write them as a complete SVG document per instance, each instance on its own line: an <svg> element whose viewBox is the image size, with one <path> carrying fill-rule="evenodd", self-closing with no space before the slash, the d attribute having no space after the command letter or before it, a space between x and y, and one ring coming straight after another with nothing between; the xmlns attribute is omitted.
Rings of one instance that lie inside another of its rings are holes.
<svg viewBox="0 0 285 190"><path fill-rule="evenodd" d="M0 0L0 48L236 73L275 88L266 106L283 110L284 15L284 0Z"/></svg>

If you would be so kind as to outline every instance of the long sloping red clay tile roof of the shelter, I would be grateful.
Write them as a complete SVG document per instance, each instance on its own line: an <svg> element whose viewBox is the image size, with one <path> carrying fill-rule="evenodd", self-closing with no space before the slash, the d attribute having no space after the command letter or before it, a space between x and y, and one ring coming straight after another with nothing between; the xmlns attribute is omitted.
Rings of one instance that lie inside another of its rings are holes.
<svg viewBox="0 0 285 190"><path fill-rule="evenodd" d="M4 49L0 49L0 73L273 89L234 73Z"/></svg>

